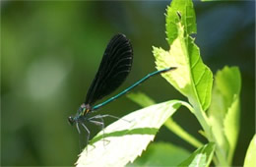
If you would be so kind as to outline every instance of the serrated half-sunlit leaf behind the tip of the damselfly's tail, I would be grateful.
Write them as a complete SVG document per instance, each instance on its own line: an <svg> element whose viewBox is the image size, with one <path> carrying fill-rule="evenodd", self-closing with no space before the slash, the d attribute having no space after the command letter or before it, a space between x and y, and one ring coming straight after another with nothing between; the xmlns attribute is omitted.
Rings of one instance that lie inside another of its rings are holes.
<svg viewBox="0 0 256 167"><path fill-rule="evenodd" d="M177 24L178 36L174 39L169 51L154 47L157 68L177 67L177 69L162 74L190 103L205 111L211 103L213 74L203 63L199 48L194 39L184 34L184 27Z"/></svg>

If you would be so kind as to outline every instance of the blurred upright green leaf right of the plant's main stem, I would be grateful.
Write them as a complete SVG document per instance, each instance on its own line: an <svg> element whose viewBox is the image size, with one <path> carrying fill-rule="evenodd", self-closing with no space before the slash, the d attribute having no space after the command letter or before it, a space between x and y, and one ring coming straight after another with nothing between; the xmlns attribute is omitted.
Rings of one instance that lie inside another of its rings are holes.
<svg viewBox="0 0 256 167"><path fill-rule="evenodd" d="M213 101L208 111L216 142L229 164L239 132L240 88L241 77L238 68L224 67L216 75Z"/></svg>

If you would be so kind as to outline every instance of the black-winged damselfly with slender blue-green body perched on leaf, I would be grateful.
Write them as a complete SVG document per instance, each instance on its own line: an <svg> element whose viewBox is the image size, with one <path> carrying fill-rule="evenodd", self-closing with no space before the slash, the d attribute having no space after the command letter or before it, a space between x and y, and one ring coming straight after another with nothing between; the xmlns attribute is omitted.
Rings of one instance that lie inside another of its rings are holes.
<svg viewBox="0 0 256 167"><path fill-rule="evenodd" d="M153 72L137 83L134 83L120 93L114 95L113 97L95 105L97 100L110 94L125 81L126 77L131 71L132 62L133 49L130 40L127 39L124 34L118 33L114 35L106 46L103 58L96 73L96 77L88 90L86 101L79 107L77 114L74 117L68 117L69 123L71 125L76 125L79 134L81 133L79 124L81 124L82 127L86 130L88 133L87 142L90 139L90 131L85 123L90 122L101 126L103 129L104 117L119 119L118 117L108 114L91 116L92 113L96 112L96 110L100 107L127 93L129 90L139 85L140 83L145 82L152 76L175 69L174 67L169 67L160 71ZM100 121L96 119L99 119Z"/></svg>

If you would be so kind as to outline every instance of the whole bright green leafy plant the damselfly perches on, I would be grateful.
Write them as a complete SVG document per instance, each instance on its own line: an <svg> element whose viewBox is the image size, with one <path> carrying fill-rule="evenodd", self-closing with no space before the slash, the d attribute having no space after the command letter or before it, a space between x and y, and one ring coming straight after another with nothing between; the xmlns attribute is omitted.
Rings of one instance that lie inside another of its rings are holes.
<svg viewBox="0 0 256 167"><path fill-rule="evenodd" d="M216 74L213 84L213 73L203 63L199 47L191 36L197 31L191 0L173 0L167 7L165 21L169 49L153 47L157 69L176 67L162 77L186 96L189 103L170 100L155 104L154 100L141 93L129 95L138 104L151 106L134 111L106 127L104 138L100 132L92 140L81 154L78 166L124 166L133 162L155 138L162 125L198 149L185 157L187 152L180 147L154 143L130 165L209 166L212 161L218 166L231 165L239 132L240 72L236 67L226 66ZM186 106L196 116L203 129L200 132L209 143L202 144L169 118L180 105ZM171 128L171 124L177 128ZM250 146L249 149L248 157L255 147ZM177 161L157 160L160 156L172 156L173 150L175 156L183 152ZM166 153L161 155L163 152Z"/></svg>

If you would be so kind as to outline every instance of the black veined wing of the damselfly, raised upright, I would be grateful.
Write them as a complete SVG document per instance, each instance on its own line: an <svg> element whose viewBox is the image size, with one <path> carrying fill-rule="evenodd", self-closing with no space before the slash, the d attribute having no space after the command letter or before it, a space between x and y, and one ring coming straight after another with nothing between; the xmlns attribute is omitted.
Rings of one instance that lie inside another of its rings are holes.
<svg viewBox="0 0 256 167"><path fill-rule="evenodd" d="M92 105L121 85L131 71L132 61L133 50L130 41L124 34L114 35L106 46L85 103Z"/></svg>

